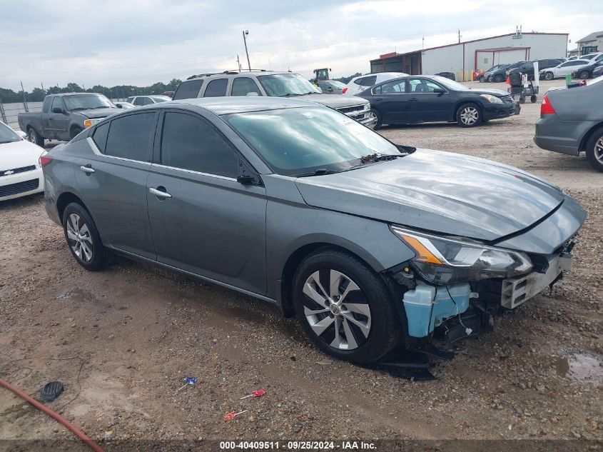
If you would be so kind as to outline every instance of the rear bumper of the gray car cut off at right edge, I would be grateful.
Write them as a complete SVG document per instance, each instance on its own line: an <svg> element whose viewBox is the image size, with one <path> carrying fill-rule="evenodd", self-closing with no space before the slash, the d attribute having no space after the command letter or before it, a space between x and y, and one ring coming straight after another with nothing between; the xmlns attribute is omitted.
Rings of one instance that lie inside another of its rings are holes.
<svg viewBox="0 0 603 452"><path fill-rule="evenodd" d="M547 151L577 156L582 138L595 125L591 121L562 121L556 114L547 114L536 121L534 143Z"/></svg>

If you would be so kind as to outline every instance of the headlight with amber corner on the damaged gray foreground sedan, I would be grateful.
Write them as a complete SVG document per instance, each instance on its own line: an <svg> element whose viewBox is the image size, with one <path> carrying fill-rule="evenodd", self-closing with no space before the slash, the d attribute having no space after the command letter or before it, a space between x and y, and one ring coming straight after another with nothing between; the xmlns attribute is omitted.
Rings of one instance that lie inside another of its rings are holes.
<svg viewBox="0 0 603 452"><path fill-rule="evenodd" d="M390 229L417 253L415 266L433 283L512 278L532 270L532 261L519 251L430 236L398 226Z"/></svg>

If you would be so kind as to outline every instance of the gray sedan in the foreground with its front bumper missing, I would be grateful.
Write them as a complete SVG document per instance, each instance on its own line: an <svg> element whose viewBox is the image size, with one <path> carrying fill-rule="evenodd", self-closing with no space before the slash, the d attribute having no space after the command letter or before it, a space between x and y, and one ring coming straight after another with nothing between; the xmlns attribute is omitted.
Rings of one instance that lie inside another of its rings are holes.
<svg viewBox="0 0 603 452"><path fill-rule="evenodd" d="M295 99L124 111L41 164L84 268L119 253L233 288L358 362L487 328L569 270L584 221L524 171L396 146Z"/></svg>

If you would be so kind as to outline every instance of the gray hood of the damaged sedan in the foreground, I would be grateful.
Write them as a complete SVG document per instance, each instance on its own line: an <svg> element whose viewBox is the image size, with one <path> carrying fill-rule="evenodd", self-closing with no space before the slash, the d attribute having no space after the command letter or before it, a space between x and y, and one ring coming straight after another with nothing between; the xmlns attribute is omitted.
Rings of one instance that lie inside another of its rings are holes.
<svg viewBox="0 0 603 452"><path fill-rule="evenodd" d="M512 166L427 149L295 184L310 206L482 241L534 225L564 199Z"/></svg>

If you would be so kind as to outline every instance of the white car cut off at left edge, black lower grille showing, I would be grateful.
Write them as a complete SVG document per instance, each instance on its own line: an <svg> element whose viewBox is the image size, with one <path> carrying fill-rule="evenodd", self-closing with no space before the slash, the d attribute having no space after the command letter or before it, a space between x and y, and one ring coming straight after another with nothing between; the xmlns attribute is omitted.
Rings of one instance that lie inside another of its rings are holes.
<svg viewBox="0 0 603 452"><path fill-rule="evenodd" d="M24 136L0 122L0 201L44 191L39 159L46 151Z"/></svg>

